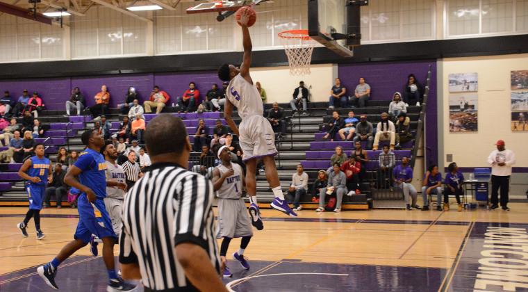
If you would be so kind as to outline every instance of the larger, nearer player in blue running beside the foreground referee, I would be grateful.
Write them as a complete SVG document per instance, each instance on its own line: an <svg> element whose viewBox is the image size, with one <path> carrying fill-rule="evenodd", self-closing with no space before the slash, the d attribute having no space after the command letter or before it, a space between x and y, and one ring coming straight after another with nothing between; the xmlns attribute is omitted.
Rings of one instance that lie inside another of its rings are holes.
<svg viewBox="0 0 528 292"><path fill-rule="evenodd" d="M81 190L77 202L79 224L74 241L65 245L55 259L38 267L37 272L48 286L58 289L55 283L58 265L87 245L92 234L95 234L103 241L103 260L110 278L106 291L129 291L135 286L124 282L115 272L113 249L117 236L103 201L106 197L106 161L99 152L104 146L104 139L97 131L87 130L81 140L87 148L79 154L79 159L64 177L66 184Z"/></svg>

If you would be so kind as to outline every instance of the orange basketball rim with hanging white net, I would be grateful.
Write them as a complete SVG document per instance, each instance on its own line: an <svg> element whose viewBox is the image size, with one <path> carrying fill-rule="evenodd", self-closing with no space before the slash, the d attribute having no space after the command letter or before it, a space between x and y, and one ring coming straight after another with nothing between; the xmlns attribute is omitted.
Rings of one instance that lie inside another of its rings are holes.
<svg viewBox="0 0 528 292"><path fill-rule="evenodd" d="M290 75L310 74L310 62L315 41L308 35L308 30L283 31L279 33L279 38L286 51L286 56L288 56Z"/></svg>

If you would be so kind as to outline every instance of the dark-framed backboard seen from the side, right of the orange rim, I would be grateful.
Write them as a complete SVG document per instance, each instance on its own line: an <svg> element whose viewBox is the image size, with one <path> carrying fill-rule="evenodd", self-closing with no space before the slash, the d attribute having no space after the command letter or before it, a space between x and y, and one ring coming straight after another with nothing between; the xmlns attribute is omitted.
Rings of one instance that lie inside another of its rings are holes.
<svg viewBox="0 0 528 292"><path fill-rule="evenodd" d="M308 0L308 35L340 56L354 56L354 47L361 44L364 5L368 0Z"/></svg>

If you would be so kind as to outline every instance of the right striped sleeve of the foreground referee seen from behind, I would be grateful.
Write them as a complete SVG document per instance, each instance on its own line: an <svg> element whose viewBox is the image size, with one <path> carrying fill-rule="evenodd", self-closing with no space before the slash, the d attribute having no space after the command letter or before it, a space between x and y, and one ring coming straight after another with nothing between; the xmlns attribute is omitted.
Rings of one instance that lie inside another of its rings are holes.
<svg viewBox="0 0 528 292"><path fill-rule="evenodd" d="M177 188L174 194L178 204L174 213L175 246L193 243L204 250L208 248L203 231L210 216L212 195L213 184L206 177L194 174L182 180L181 188Z"/></svg>

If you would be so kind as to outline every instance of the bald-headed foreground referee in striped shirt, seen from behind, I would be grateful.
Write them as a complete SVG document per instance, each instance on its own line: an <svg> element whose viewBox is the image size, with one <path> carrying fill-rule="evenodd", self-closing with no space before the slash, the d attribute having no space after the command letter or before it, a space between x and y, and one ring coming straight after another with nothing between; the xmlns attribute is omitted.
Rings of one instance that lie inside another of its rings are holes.
<svg viewBox="0 0 528 292"><path fill-rule="evenodd" d="M226 291L211 204L213 186L188 171L185 124L173 115L149 122L145 144L151 167L127 193L119 262L124 279L145 291Z"/></svg>

